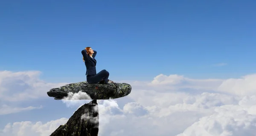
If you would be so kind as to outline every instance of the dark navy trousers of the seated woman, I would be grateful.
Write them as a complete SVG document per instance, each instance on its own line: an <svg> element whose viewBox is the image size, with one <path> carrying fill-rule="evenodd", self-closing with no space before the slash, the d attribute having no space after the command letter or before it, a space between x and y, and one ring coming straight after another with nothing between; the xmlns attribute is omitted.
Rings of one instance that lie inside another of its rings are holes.
<svg viewBox="0 0 256 136"><path fill-rule="evenodd" d="M102 80L104 80L105 83L108 83L108 76L109 76L109 72L104 69L96 75L87 75L86 76L87 83L96 84L96 83L99 83L99 81L102 81Z"/></svg>

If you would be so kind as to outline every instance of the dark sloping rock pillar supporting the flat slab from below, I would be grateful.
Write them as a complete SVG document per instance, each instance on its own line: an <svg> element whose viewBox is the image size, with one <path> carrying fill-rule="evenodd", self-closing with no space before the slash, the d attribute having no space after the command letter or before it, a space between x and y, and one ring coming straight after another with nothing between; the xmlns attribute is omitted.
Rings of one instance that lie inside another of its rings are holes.
<svg viewBox="0 0 256 136"><path fill-rule="evenodd" d="M81 106L66 124L60 125L50 136L98 136L99 109L96 100Z"/></svg>

